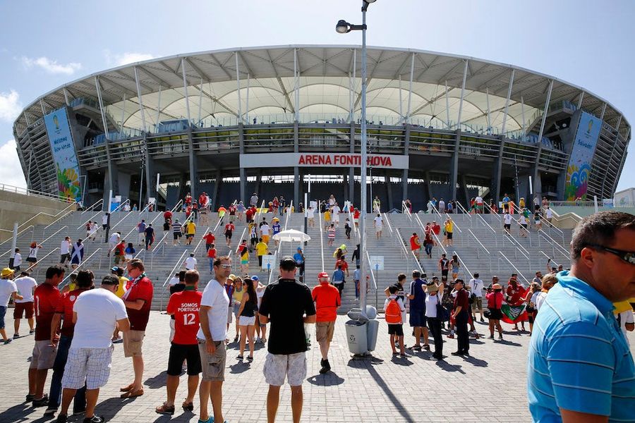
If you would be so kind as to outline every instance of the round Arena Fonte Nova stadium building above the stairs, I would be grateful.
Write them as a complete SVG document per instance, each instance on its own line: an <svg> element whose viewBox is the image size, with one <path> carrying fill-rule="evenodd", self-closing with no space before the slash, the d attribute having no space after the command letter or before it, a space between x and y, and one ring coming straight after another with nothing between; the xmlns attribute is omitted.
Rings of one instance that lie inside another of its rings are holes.
<svg viewBox="0 0 635 423"><path fill-rule="evenodd" d="M251 192L359 197L361 47L296 45L152 59L42 95L13 131L28 187L214 205ZM368 49L373 197L557 200L615 192L631 127L596 94L517 66ZM285 182L276 183L272 182ZM369 198L370 202L370 198Z"/></svg>

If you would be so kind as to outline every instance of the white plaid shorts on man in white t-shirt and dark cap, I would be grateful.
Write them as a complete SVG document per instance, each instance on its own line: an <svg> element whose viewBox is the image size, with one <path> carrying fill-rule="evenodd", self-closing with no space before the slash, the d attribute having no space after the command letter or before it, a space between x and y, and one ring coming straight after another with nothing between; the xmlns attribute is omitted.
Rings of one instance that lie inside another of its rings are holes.
<svg viewBox="0 0 635 423"><path fill-rule="evenodd" d="M62 387L79 389L86 383L87 389L102 388L108 382L112 361L111 345L108 348L71 348L62 376Z"/></svg>

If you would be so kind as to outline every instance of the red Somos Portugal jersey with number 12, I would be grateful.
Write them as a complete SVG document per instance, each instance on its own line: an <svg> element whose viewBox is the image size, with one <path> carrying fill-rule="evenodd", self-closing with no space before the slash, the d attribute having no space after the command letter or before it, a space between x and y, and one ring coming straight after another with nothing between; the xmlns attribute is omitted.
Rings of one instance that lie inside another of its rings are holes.
<svg viewBox="0 0 635 423"><path fill-rule="evenodd" d="M202 293L186 287L180 293L170 296L167 305L168 314L174 314L174 339L172 343L179 345L196 345L198 332L198 311Z"/></svg>

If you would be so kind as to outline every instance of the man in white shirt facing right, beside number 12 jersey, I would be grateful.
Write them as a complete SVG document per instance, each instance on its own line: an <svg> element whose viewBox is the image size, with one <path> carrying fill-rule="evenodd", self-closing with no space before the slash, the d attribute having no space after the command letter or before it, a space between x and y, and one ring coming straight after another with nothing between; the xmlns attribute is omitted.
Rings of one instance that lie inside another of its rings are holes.
<svg viewBox="0 0 635 423"><path fill-rule="evenodd" d="M200 381L201 422L207 422L207 398L212 400L214 422L224 422L222 412L223 381L225 380L225 362L227 358L225 338L227 337L227 309L229 297L225 282L231 273L231 259L218 257L213 264L214 278L207 283L200 302L200 329L197 333L198 351L202 364Z"/></svg>

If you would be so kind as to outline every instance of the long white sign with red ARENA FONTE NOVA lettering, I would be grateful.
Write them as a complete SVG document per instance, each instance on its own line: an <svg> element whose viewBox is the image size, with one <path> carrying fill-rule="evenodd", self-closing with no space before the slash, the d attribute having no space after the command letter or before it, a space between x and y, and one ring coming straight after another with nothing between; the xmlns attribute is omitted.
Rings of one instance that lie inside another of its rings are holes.
<svg viewBox="0 0 635 423"><path fill-rule="evenodd" d="M407 169L408 156L400 154L368 154L366 163L373 168ZM361 167L361 154L356 153L265 153L241 154L241 168L270 167Z"/></svg>

